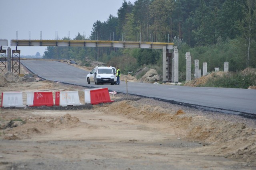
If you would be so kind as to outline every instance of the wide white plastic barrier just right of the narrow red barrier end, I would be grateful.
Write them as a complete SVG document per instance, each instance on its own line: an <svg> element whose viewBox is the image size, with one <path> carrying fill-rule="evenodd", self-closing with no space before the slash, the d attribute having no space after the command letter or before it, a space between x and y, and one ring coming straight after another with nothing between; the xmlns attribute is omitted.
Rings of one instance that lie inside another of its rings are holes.
<svg viewBox="0 0 256 170"><path fill-rule="evenodd" d="M81 105L78 91L60 92L60 106Z"/></svg>

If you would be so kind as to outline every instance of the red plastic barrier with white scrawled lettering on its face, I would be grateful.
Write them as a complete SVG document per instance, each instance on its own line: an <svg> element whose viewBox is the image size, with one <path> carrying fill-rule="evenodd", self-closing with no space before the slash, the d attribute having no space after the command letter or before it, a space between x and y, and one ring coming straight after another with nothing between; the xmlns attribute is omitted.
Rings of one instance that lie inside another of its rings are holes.
<svg viewBox="0 0 256 170"><path fill-rule="evenodd" d="M52 92L34 92L33 106L53 106Z"/></svg>

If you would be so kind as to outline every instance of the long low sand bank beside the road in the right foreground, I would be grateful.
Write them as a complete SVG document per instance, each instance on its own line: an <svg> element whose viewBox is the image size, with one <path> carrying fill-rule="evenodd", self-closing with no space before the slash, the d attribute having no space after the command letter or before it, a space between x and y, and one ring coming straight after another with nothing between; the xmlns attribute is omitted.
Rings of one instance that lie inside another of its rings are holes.
<svg viewBox="0 0 256 170"><path fill-rule="evenodd" d="M209 120L196 115L191 117L182 110L170 114L169 110L149 105L138 106L133 101L114 102L102 109L106 112L124 114L142 122L169 124L170 128L176 130L177 135L185 134L182 138L204 143L205 147L196 148L195 152L239 158L247 162L254 162L256 159L256 129L247 128L243 123Z"/></svg>

